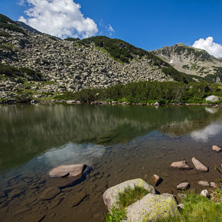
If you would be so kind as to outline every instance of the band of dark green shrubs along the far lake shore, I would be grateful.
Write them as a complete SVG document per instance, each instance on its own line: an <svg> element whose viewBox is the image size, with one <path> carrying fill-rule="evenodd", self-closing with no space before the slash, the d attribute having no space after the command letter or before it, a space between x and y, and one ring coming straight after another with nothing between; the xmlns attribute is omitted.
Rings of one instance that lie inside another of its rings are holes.
<svg viewBox="0 0 222 222"><path fill-rule="evenodd" d="M219 84L207 82L137 82L118 84L106 89L83 89L76 93L64 93L54 99L74 99L81 102L117 101L128 103L206 103L209 95L222 97Z"/></svg>

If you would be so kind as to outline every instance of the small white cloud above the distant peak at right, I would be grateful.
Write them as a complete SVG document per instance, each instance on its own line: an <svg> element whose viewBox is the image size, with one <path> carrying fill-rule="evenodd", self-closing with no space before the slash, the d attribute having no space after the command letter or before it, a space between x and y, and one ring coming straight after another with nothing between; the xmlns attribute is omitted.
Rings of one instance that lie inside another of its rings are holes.
<svg viewBox="0 0 222 222"><path fill-rule="evenodd" d="M199 40L195 41L193 47L204 49L209 54L220 58L222 57L222 45L213 41L213 37L208 37L206 39L200 38Z"/></svg>

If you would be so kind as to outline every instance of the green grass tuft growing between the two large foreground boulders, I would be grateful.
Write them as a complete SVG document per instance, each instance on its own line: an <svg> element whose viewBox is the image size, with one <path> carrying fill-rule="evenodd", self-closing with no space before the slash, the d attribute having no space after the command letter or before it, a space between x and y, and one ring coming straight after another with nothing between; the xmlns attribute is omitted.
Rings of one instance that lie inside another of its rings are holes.
<svg viewBox="0 0 222 222"><path fill-rule="evenodd" d="M134 188L127 187L122 193L119 193L117 201L118 207L112 207L111 212L106 216L106 222L118 222L126 218L125 208L142 199L149 192L143 187L134 186Z"/></svg>

